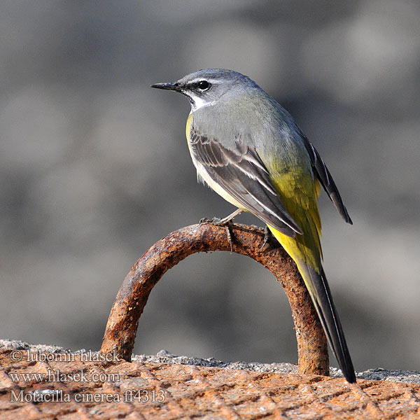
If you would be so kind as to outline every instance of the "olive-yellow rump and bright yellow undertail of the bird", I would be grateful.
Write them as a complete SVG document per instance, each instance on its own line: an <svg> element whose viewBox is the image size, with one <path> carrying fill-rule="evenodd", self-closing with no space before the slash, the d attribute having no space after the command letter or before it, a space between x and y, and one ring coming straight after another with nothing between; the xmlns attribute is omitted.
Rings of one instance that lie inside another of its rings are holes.
<svg viewBox="0 0 420 420"><path fill-rule="evenodd" d="M282 174L272 181L281 197L281 202L303 230L303 235L290 238L275 230L272 226L268 226L268 228L281 246L286 249L290 257L295 260L297 268L305 277L307 269L304 265L310 265L318 274L321 274L322 269L322 250L319 240L321 218L319 217L317 202L320 186L318 180L314 182L310 174L300 176L298 180L295 175Z"/></svg>

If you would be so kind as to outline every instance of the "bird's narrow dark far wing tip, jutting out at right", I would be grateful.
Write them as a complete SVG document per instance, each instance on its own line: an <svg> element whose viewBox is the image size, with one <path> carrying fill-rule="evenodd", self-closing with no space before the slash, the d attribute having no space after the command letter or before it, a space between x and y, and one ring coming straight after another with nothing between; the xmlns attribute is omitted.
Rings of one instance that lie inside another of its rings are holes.
<svg viewBox="0 0 420 420"><path fill-rule="evenodd" d="M350 225L353 225L349 213L346 207L344 206L342 197L339 195L338 188L335 185L334 180L332 179L330 171L328 171L328 167L326 167L318 151L316 150L316 148L314 148L314 145L311 144L311 142L303 135L302 139L304 141L304 146L307 149L307 152L309 153L309 158L311 159L312 167L315 169L316 176L321 182L321 185L323 186L326 193L330 196L332 203L335 205L335 208L342 216L342 218L344 218L344 221L346 221L346 223L350 223Z"/></svg>

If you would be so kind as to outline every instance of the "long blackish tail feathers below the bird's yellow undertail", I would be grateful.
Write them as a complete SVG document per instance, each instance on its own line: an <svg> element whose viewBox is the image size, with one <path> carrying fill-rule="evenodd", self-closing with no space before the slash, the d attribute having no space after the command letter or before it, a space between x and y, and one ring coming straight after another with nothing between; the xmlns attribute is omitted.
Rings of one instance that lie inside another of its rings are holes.
<svg viewBox="0 0 420 420"><path fill-rule="evenodd" d="M325 278L325 273L321 269L321 275L319 275L312 267L307 265L307 274L311 279L311 286L313 287L312 290L308 287L308 290L314 301L315 309L318 312L325 335L344 377L353 384L356 382L356 374L354 373L349 349L344 338L342 325L339 322L337 309L335 309L335 304L332 301L332 295L327 279Z"/></svg>

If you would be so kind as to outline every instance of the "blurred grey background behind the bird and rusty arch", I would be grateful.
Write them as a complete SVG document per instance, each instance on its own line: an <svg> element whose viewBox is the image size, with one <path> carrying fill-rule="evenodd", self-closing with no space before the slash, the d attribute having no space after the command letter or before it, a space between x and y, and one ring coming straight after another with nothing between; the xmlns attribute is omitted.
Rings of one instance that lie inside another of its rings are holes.
<svg viewBox="0 0 420 420"><path fill-rule="evenodd" d="M232 211L196 182L186 98L149 87L227 67L295 116L353 218L322 195L356 369L420 370L418 1L3 0L0 22L1 338L99 349L137 258ZM229 253L158 283L135 351L160 349L297 360L281 286Z"/></svg>

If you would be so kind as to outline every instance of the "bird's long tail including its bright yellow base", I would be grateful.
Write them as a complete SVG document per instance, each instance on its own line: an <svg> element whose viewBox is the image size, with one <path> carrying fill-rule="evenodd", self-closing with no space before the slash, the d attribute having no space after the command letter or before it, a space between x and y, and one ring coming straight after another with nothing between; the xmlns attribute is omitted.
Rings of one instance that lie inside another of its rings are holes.
<svg viewBox="0 0 420 420"><path fill-rule="evenodd" d="M295 238L290 238L271 226L269 226L269 229L293 260L295 260L297 268L307 286L309 295L314 302L314 307L327 336L328 343L334 352L344 377L350 383L356 382L356 375L354 373L353 363L351 362L349 349L347 348L346 339L344 338L342 325L339 322L337 309L335 309L330 287L328 286L321 265L321 255L316 252L314 253L314 250L318 246L314 243L308 244L308 235L297 235ZM315 238L311 237L311 239L313 241ZM307 262L304 262L303 258ZM312 265L316 268L312 267Z"/></svg>

